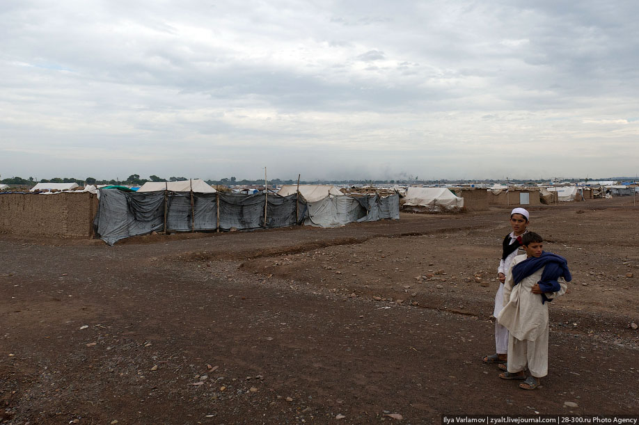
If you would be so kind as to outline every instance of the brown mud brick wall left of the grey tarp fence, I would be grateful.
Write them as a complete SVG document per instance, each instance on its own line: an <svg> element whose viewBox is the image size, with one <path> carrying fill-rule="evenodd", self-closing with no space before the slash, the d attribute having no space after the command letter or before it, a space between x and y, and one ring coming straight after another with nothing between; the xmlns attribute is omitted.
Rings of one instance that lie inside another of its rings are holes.
<svg viewBox="0 0 639 425"><path fill-rule="evenodd" d="M8 193L0 195L0 233L89 238L96 211L93 193Z"/></svg>

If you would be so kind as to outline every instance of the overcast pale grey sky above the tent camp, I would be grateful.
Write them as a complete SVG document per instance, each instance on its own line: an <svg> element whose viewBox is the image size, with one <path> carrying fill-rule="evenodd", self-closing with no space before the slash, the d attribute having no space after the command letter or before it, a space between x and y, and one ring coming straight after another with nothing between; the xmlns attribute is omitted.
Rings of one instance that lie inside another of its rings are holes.
<svg viewBox="0 0 639 425"><path fill-rule="evenodd" d="M0 175L639 173L639 3L0 1Z"/></svg>

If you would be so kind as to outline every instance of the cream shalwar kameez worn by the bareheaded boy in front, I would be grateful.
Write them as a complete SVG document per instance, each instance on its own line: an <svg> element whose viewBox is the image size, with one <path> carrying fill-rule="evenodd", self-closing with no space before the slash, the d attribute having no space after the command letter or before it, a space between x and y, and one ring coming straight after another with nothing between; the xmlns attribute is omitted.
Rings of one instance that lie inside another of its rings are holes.
<svg viewBox="0 0 639 425"><path fill-rule="evenodd" d="M528 366L532 376L542 378L548 374L548 304L542 304L540 294L532 294L532 287L541 280L545 267L514 285L512 268L525 259L526 255L517 255L512 261L504 282L504 307L498 314L497 321L510 332L508 371L516 374ZM546 298L552 299L565 294L566 281L559 278L558 282L560 291L546 293Z"/></svg>

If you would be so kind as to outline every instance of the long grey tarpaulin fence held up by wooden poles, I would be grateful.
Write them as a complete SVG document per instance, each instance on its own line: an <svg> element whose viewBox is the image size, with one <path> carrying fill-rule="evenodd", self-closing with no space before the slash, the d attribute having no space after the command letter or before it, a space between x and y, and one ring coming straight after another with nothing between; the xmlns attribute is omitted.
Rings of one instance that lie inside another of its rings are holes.
<svg viewBox="0 0 639 425"><path fill-rule="evenodd" d="M306 202L297 193L125 192L100 189L93 225L102 240L151 232L228 231L285 227L301 223L337 227L354 221L400 218L399 196L329 197Z"/></svg>

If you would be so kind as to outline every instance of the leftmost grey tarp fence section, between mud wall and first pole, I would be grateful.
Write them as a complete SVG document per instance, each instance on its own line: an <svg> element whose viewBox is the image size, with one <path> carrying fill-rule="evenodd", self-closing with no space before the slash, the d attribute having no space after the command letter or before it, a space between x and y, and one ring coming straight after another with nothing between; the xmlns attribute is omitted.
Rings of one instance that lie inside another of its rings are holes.
<svg viewBox="0 0 639 425"><path fill-rule="evenodd" d="M164 228L164 193L100 189L96 233L113 245L120 239Z"/></svg>

